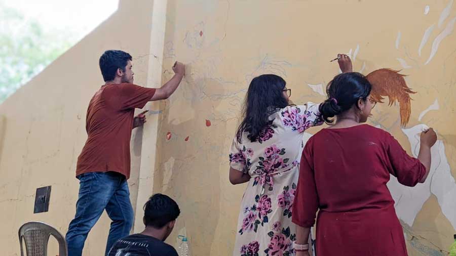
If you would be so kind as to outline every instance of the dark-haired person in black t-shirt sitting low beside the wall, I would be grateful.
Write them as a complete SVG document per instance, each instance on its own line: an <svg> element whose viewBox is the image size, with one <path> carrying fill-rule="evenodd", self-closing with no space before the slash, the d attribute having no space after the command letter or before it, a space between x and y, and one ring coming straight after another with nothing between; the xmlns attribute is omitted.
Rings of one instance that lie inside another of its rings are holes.
<svg viewBox="0 0 456 256"><path fill-rule="evenodd" d="M179 214L179 206L169 196L151 196L144 204L144 231L119 239L108 256L178 256L164 241L173 231Z"/></svg>

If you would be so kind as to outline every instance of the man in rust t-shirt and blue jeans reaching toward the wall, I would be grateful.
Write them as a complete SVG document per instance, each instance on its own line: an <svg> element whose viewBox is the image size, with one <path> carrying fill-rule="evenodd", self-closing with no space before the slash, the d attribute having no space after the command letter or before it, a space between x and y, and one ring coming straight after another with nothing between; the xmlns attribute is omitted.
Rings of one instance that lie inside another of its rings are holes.
<svg viewBox="0 0 456 256"><path fill-rule="evenodd" d="M76 177L80 180L76 214L66 233L69 256L81 256L89 231L104 210L112 220L106 253L118 239L128 236L133 208L127 179L130 177L131 131L145 122L144 112L135 108L148 101L167 99L185 72L182 63L173 66L175 75L163 87L144 88L133 84L132 57L123 51L106 51L100 57L105 84L95 93L87 109L87 141L78 157Z"/></svg>

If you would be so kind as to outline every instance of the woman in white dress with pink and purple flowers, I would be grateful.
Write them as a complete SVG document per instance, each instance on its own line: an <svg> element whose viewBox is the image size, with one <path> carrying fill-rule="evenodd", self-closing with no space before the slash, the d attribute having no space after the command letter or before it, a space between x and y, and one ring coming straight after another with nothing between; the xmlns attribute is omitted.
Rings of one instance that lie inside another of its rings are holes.
<svg viewBox="0 0 456 256"><path fill-rule="evenodd" d="M351 72L347 55L339 54L343 72ZM291 90L277 75L253 78L244 119L230 149L230 182L248 182L241 202L233 256L295 255L291 223L303 132L320 125L319 105L290 105Z"/></svg>

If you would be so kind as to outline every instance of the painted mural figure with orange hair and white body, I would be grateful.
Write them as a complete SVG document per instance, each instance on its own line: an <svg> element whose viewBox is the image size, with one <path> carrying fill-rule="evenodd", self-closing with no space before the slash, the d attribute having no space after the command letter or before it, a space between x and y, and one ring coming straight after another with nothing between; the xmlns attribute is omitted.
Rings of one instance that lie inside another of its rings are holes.
<svg viewBox="0 0 456 256"><path fill-rule="evenodd" d="M409 129L405 129L404 127L408 123L411 113L409 94L415 93L407 87L403 78L404 76L397 72L392 72L389 69L381 69L371 72L367 75L367 79L372 84L372 95L374 99L381 100L383 99L382 96L387 96L390 106L396 101L399 102L400 124L402 127L398 125L399 120L389 118L388 113L376 113L373 119L377 121L380 125L379 127L390 132L395 132L396 136L401 135L398 133L404 134L410 142L412 155L416 157L420 150L419 134L426 130L427 126L421 123ZM418 120L421 121L426 113L437 109L439 109L439 104L436 99L432 105L419 115ZM392 119L394 122L389 123L388 119ZM397 179L392 177L388 182L388 188L395 200L399 219L407 225L413 225L413 221L424 203L429 199L431 194L434 194L437 197L442 213L453 228L456 229L456 200L454 200L456 198L456 183L450 172L443 141L439 140L437 145L432 148L431 153L433 160L430 179L427 179L424 184L418 184L415 187L405 187L400 185Z"/></svg>

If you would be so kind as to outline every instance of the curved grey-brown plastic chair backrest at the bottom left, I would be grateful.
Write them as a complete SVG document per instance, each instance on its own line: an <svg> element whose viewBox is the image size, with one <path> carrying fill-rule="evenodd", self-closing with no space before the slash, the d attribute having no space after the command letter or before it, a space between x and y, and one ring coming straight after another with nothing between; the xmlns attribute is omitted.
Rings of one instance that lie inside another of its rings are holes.
<svg viewBox="0 0 456 256"><path fill-rule="evenodd" d="M53 235L59 243L59 256L67 256L65 238L55 228L43 222L27 222L19 228L21 256L24 256L22 239L25 240L27 256L47 256L50 235Z"/></svg>

